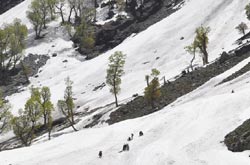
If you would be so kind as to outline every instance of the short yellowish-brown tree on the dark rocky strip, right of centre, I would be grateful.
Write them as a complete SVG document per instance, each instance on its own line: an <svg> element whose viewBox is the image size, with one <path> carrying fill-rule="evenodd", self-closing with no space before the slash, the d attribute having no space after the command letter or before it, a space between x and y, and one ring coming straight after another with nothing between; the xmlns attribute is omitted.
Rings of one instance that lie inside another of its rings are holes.
<svg viewBox="0 0 250 165"><path fill-rule="evenodd" d="M161 90L160 90L160 83L158 75L160 72L157 69L152 69L152 80L150 81L149 85L145 88L144 91L144 97L147 100L147 102L151 105L152 109L155 108L155 102L160 98L161 96Z"/></svg>

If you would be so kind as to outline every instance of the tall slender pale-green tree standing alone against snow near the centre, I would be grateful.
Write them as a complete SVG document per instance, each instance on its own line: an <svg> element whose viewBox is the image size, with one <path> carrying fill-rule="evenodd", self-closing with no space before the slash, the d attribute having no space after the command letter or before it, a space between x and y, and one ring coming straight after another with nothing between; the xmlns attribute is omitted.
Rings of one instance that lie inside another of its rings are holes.
<svg viewBox="0 0 250 165"><path fill-rule="evenodd" d="M124 74L124 64L126 55L121 51L116 51L109 57L106 83L110 86L110 92L115 96L115 105L118 107L117 95L121 88L121 76Z"/></svg>

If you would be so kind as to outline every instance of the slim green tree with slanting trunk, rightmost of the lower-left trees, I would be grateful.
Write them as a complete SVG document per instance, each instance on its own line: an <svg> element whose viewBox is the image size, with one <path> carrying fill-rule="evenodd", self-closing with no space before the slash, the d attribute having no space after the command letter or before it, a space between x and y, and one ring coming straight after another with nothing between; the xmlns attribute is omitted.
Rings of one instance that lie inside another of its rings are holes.
<svg viewBox="0 0 250 165"><path fill-rule="evenodd" d="M72 84L73 82L70 80L69 77L65 80L66 89L64 91L64 100L58 100L57 107L62 112L62 114L66 117L70 126L73 128L74 131L77 129L74 127L75 119L74 119L74 100L73 100L73 92L72 92Z"/></svg>

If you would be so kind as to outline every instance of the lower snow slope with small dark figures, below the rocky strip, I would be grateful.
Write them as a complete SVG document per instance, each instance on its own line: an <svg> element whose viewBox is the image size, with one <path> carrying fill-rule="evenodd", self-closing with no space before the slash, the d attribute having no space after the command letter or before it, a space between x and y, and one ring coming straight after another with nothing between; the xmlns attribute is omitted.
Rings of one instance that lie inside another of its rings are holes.
<svg viewBox="0 0 250 165"><path fill-rule="evenodd" d="M155 114L4 151L0 153L0 164L247 165L249 152L232 153L221 141L249 117L249 73L230 83L214 85L249 61L246 59ZM144 136L138 137L141 130ZM129 143L130 151L119 153L131 133L135 137ZM98 158L99 150L103 151L102 159Z"/></svg>

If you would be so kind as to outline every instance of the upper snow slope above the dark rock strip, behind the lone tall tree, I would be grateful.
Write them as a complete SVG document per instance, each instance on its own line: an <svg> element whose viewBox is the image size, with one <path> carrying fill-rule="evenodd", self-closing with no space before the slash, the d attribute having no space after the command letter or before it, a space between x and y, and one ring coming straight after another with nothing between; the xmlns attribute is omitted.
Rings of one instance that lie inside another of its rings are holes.
<svg viewBox="0 0 250 165"><path fill-rule="evenodd" d="M18 16L27 22L25 12L30 0L1 15L0 22L8 22ZM196 27L204 24L210 26L209 60L212 61L224 50L232 47L239 37L235 26L245 19L244 6L247 0L191 0L183 8L170 17L151 26L146 31L128 38L115 49L90 61L81 62L74 56L76 53L70 49L72 43L61 38L60 29L51 30L47 35L46 43L32 43L26 53L50 54L58 53L42 69L39 78L32 79L32 85L47 85L52 90L53 101L63 96L64 79L67 76L74 81L74 93L78 99L77 104L83 107L106 105L113 102L113 96L108 87L93 91L94 87L105 82L107 58L116 50L127 54L125 75L122 80L122 91L119 100L141 93L144 89L144 76L152 68L158 68L162 76L171 78L179 74L189 64L190 56L184 51L194 37ZM20 13L16 13L19 11ZM52 23L53 26L59 26ZM32 35L32 34L31 34ZM184 40L180 40L181 37ZM55 47L52 47L54 45ZM156 60L157 57L160 59ZM64 64L62 61L68 60ZM149 62L143 64L144 62ZM22 96L22 97L20 97ZM8 99L13 102L15 111L23 107L29 96L29 91L13 95Z"/></svg>

